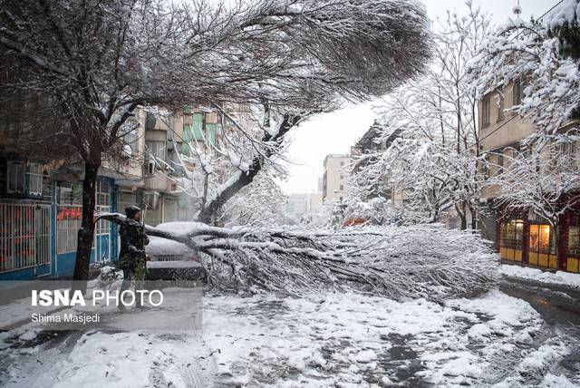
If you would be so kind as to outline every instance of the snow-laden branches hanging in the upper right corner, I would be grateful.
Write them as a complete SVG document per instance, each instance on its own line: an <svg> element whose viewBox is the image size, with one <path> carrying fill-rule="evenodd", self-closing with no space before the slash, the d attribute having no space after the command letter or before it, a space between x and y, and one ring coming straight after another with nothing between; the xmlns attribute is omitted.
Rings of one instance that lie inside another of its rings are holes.
<svg viewBox="0 0 580 388"><path fill-rule="evenodd" d="M580 117L578 9L577 0L565 0L538 21L510 20L489 35L469 63L478 98L510 82L521 85L522 101L509 111L536 123L527 143L540 148L570 131L570 121Z"/></svg>

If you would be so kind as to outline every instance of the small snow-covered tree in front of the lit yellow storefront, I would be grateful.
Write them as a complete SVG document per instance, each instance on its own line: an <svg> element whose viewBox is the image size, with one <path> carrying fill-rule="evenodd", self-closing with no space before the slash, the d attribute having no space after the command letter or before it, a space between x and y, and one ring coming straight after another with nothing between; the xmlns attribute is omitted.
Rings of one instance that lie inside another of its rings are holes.
<svg viewBox="0 0 580 388"><path fill-rule="evenodd" d="M580 160L571 144L562 141L541 151L502 154L503 166L497 166L501 170L486 182L497 193L498 211L532 211L551 226L554 240L560 241L560 221L580 204ZM559 247L555 246L557 255Z"/></svg>

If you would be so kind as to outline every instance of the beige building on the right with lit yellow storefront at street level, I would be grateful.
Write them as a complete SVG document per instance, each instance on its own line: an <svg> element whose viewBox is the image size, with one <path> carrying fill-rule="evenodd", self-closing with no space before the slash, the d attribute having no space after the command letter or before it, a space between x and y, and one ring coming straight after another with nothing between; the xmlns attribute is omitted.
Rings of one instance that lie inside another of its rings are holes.
<svg viewBox="0 0 580 388"><path fill-rule="evenodd" d="M511 106L520 104L524 88L524 81L511 82L503 91L489 92L478 102L480 148L482 154L488 155L488 168L482 172L487 177L509 173L507 160L520 151L521 140L536 132L533 121L522 120L513 112L505 112ZM553 150L546 148L542 152ZM566 152L570 160L578 160L575 144L567 146ZM559 240L556 241L555 231L533 211L507 212L498 209L495 202L497 195L497 187L487 186L482 190L480 203L484 211L480 212L480 225L483 236L495 241L502 260L580 272L580 208L562 219L558 226Z"/></svg>

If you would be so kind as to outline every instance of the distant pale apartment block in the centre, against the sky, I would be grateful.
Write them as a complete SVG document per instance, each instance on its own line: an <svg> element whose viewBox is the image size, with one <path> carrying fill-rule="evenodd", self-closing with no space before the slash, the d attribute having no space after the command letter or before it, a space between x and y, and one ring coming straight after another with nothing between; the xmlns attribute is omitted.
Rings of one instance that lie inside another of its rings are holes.
<svg viewBox="0 0 580 388"><path fill-rule="evenodd" d="M351 157L330 154L324 158L323 203L341 202L348 193Z"/></svg>

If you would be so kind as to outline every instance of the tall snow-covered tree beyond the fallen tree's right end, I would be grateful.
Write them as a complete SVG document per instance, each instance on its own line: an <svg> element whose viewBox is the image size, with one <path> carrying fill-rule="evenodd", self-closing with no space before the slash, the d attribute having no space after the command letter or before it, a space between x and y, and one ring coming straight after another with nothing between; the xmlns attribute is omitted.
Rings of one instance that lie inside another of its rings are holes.
<svg viewBox="0 0 580 388"><path fill-rule="evenodd" d="M364 166L353 176L355 195L389 187L402 191L408 221L435 222L452 211L460 228L467 228L469 213L474 226L481 177L476 88L467 64L488 34L488 15L470 3L467 15L448 13L435 24L430 71L377 109L382 123L377 141L392 143L355 161Z"/></svg>

